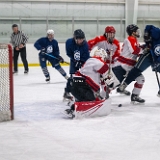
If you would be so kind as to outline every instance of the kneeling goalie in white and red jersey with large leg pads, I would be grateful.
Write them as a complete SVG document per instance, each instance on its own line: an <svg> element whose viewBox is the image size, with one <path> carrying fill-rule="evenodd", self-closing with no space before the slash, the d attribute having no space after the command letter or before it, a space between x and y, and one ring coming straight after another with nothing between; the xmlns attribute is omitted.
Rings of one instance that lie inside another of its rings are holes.
<svg viewBox="0 0 160 160"><path fill-rule="evenodd" d="M106 65L107 57L104 49L94 50L94 56L76 72L71 85L71 93L76 102L70 109L65 110L64 113L68 117L73 118L74 111L77 118L104 116L110 113L110 100L100 95L100 81L103 78L106 86L110 88L117 86L119 81L112 69Z"/></svg>

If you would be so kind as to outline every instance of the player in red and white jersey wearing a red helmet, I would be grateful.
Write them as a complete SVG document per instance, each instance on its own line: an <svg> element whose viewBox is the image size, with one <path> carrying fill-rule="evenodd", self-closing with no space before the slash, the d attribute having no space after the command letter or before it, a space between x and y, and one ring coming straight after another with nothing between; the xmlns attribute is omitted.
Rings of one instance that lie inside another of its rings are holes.
<svg viewBox="0 0 160 160"><path fill-rule="evenodd" d="M95 46L104 49L109 56L106 63L110 63L114 66L114 62L120 55L120 43L115 38L116 30L113 26L107 26L105 32L101 36L97 36L94 39L88 41L89 50L92 50Z"/></svg>

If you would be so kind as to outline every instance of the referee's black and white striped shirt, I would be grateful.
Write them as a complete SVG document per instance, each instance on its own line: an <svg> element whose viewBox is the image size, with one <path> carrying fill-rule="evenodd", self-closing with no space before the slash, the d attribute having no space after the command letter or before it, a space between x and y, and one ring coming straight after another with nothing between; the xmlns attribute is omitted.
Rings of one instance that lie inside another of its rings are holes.
<svg viewBox="0 0 160 160"><path fill-rule="evenodd" d="M25 45L28 41L28 36L22 31L18 31L17 34L11 34L11 43L13 47L18 47L20 44Z"/></svg>

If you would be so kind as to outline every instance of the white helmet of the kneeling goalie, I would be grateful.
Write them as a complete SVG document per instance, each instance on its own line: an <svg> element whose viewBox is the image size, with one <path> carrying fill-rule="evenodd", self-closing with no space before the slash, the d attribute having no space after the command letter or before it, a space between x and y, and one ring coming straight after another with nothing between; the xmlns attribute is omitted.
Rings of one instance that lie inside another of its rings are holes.
<svg viewBox="0 0 160 160"><path fill-rule="evenodd" d="M106 59L108 58L107 52L103 48L98 48L97 46L91 50L90 54L93 57L101 57L104 61L106 61Z"/></svg>

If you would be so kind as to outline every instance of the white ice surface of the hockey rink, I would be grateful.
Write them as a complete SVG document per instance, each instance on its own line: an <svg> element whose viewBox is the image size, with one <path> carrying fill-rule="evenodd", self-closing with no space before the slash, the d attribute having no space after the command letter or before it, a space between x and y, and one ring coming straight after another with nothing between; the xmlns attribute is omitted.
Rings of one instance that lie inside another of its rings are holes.
<svg viewBox="0 0 160 160"><path fill-rule="evenodd" d="M50 84L40 67L14 76L15 119L0 123L0 160L160 160L160 98L151 69L144 72L144 105L113 91L109 116L81 120L61 114L66 80L49 71Z"/></svg>

